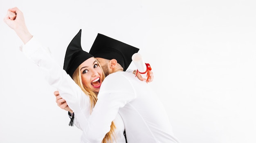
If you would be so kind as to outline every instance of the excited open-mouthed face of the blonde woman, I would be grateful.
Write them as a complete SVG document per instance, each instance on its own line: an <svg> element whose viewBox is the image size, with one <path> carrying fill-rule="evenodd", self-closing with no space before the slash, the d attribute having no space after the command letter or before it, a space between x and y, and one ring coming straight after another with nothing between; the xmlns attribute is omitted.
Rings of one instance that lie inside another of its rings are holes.
<svg viewBox="0 0 256 143"><path fill-rule="evenodd" d="M99 88L101 87L103 74L97 60L93 57L88 58L81 63L79 67L83 85L98 93Z"/></svg>

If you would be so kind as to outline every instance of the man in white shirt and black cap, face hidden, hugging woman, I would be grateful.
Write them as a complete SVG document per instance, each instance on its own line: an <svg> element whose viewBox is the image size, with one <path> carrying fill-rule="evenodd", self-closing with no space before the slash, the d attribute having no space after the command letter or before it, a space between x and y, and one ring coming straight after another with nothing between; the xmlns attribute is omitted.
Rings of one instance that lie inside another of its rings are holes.
<svg viewBox="0 0 256 143"><path fill-rule="evenodd" d="M91 132L92 128L100 130L103 126L110 126L119 113L128 143L179 143L173 135L164 106L152 88L136 79L134 74L124 72L123 61L127 51L115 39L97 35L89 53L97 58L109 75L102 82L98 101L84 127L83 139L86 141L96 134ZM95 119L104 121L95 123Z"/></svg>

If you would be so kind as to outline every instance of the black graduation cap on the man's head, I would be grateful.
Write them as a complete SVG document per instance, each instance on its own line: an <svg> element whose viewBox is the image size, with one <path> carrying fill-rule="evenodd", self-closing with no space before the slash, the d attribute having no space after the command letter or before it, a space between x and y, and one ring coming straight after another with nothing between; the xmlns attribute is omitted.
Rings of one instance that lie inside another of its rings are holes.
<svg viewBox="0 0 256 143"><path fill-rule="evenodd" d="M98 33L89 53L95 58L116 59L126 71L132 62L132 55L138 51L138 48Z"/></svg>

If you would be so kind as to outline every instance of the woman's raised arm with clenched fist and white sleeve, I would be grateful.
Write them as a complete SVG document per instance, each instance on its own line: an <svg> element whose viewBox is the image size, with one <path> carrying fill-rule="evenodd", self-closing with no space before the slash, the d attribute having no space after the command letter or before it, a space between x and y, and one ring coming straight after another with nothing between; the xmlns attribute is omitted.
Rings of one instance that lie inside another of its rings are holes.
<svg viewBox="0 0 256 143"><path fill-rule="evenodd" d="M56 63L56 60L49 54L47 48L41 45L35 37L33 37L27 29L22 11L17 7L8 9L4 22L12 28L18 37L23 41L24 46L22 52L38 65L43 73L45 80L57 88L61 97L66 100L70 108L75 112L81 109L90 109L90 99L80 89L78 85L70 78L65 70Z"/></svg>

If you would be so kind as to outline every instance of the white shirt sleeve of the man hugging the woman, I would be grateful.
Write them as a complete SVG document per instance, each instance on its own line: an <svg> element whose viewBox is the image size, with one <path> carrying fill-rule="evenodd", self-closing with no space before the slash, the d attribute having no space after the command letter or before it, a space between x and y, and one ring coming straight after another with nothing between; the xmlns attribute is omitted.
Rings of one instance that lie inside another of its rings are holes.
<svg viewBox="0 0 256 143"><path fill-rule="evenodd" d="M110 131L111 122L119 108L135 98L134 87L124 76L115 73L108 75L102 82L97 103L85 124L82 142L89 140L91 143L101 143L105 134Z"/></svg>

